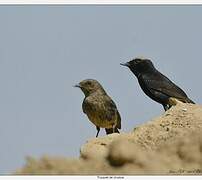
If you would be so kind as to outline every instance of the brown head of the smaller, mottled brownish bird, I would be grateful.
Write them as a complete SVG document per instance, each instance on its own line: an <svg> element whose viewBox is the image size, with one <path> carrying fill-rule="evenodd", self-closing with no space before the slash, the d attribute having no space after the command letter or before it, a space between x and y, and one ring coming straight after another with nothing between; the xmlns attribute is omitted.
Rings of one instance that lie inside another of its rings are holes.
<svg viewBox="0 0 202 180"><path fill-rule="evenodd" d="M94 93L96 91L105 92L101 84L94 79L85 79L81 81L79 84L76 84L74 87L80 88L85 96L90 95L91 93Z"/></svg>

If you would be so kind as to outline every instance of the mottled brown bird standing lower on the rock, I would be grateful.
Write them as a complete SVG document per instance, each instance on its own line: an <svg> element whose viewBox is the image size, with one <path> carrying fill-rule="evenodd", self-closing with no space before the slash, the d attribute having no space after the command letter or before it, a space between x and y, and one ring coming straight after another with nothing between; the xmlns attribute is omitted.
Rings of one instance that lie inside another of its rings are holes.
<svg viewBox="0 0 202 180"><path fill-rule="evenodd" d="M116 104L107 95L102 85L95 79L85 79L75 87L80 88L85 95L82 109L96 126L96 137L98 137L100 128L105 128L106 134L119 133L121 116Z"/></svg>

